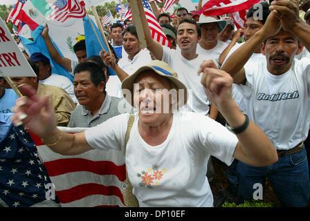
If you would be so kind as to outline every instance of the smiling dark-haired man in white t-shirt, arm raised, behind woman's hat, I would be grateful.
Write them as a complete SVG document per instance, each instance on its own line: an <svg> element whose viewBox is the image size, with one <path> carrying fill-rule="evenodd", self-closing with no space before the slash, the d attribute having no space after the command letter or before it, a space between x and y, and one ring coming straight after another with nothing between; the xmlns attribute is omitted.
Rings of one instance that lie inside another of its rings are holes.
<svg viewBox="0 0 310 221"><path fill-rule="evenodd" d="M143 15L141 19L146 19ZM197 23L192 19L180 21L176 35L176 43L180 50L172 50L159 44L152 39L147 22L143 22L143 24L147 49L152 52L155 59L169 64L178 73L180 81L190 89L188 103L183 106L182 110L209 115L210 101L201 85L201 76L197 75L197 70L202 61L208 59L208 57L198 55L196 52L197 43L201 40L201 32Z"/></svg>

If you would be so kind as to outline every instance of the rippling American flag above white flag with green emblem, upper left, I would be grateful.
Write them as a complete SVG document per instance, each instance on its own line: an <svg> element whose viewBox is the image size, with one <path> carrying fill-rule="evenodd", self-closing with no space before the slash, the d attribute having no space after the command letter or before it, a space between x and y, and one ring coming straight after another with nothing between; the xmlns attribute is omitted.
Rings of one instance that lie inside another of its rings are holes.
<svg viewBox="0 0 310 221"><path fill-rule="evenodd" d="M85 9L78 0L57 0L51 7L54 11L48 19L64 22L70 17L82 18L86 15Z"/></svg>

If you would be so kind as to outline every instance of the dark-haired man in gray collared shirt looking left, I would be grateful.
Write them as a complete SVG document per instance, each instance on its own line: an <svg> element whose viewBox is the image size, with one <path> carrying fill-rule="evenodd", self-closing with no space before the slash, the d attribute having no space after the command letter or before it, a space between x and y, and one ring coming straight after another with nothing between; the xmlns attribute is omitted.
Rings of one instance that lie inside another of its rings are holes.
<svg viewBox="0 0 310 221"><path fill-rule="evenodd" d="M86 61L74 70L74 92L80 105L71 113L69 127L91 127L119 115L118 97L105 91L106 78L99 66Z"/></svg>

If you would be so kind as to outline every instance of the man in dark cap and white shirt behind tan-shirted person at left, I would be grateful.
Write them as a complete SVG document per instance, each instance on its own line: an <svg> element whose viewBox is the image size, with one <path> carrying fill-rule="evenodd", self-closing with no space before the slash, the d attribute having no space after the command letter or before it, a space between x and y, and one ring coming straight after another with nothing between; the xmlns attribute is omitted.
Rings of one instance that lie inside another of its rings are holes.
<svg viewBox="0 0 310 221"><path fill-rule="evenodd" d="M66 90L73 102L78 104L78 100L74 95L72 82L68 77L52 73L50 59L39 52L33 53L33 55L30 56L30 59L35 61L35 64L39 66L39 83L59 87Z"/></svg>

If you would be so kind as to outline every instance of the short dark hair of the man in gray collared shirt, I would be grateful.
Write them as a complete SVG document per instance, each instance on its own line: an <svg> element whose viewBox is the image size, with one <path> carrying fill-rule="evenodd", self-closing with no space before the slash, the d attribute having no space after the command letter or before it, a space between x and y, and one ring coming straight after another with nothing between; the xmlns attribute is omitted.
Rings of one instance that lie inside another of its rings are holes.
<svg viewBox="0 0 310 221"><path fill-rule="evenodd" d="M98 86L100 82L103 81L105 90L105 84L107 83L107 79L104 76L102 68L100 68L94 62L84 61L75 66L73 73L75 75L76 73L80 73L82 71L89 71L89 73L91 73L91 82L93 82L95 86Z"/></svg>

